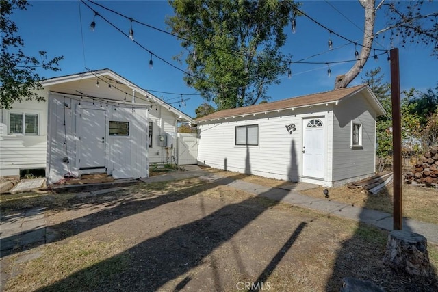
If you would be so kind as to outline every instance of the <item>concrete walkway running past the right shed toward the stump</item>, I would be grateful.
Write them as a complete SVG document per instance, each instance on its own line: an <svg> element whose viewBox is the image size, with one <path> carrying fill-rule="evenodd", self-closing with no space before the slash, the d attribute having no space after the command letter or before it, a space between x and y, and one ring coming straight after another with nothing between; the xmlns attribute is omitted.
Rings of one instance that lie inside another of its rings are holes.
<svg viewBox="0 0 438 292"><path fill-rule="evenodd" d="M394 219L390 213L355 207L349 204L343 204L341 202L335 202L333 200L324 198L322 194L320 199L304 196L297 191L298 189L304 190L307 188L312 188L311 184L298 183L297 187L292 190L279 189L276 187L263 187L254 183L232 180L231 178L229 180L224 180L222 176L205 172L200 168L194 168L188 172L175 172L164 174L162 176L142 178L141 181L144 181L145 183L155 183L157 181L174 181L177 179L192 177L201 177L209 182L221 181L221 183L224 183L224 185L234 187L235 189L241 189L257 196L263 196L273 200L279 200L287 204L312 209L326 215L345 217L351 220L363 222L365 224L370 224L384 230L391 231L393 227ZM435 224L404 218L403 229L410 230L414 233L420 233L426 237L429 242L438 243L438 226Z"/></svg>

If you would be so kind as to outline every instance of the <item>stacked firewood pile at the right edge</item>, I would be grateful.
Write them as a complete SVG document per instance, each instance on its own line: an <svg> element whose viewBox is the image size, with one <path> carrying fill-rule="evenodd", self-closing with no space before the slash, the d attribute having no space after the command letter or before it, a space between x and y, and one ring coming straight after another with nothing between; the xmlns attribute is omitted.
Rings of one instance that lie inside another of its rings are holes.
<svg viewBox="0 0 438 292"><path fill-rule="evenodd" d="M438 178L438 148L432 148L421 156L410 172L407 172L404 177L406 183L413 181L432 185L437 183Z"/></svg>

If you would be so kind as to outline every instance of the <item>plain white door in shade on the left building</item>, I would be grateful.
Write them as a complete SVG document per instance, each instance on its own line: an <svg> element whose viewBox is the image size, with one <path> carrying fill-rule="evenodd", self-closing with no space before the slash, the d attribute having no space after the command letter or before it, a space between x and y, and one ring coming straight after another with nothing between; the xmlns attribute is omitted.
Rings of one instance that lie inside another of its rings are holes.
<svg viewBox="0 0 438 292"><path fill-rule="evenodd" d="M105 110L81 109L80 168L105 168Z"/></svg>

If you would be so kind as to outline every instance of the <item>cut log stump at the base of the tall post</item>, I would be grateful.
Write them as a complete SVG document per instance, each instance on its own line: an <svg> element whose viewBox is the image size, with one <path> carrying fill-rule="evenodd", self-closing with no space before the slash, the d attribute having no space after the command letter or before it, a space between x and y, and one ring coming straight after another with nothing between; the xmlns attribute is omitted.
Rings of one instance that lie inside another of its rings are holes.
<svg viewBox="0 0 438 292"><path fill-rule="evenodd" d="M430 263L426 237L406 230L391 231L383 262L411 276L428 276Z"/></svg>

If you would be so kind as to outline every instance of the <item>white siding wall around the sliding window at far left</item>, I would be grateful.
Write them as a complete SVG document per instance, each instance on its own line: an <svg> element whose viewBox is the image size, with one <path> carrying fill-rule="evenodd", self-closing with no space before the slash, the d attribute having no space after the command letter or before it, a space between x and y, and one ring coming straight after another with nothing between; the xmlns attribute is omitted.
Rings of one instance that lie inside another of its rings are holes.
<svg viewBox="0 0 438 292"><path fill-rule="evenodd" d="M40 95L47 96L46 92ZM45 168L47 102L23 101L13 109L0 109L0 176L18 176L21 169ZM10 113L38 114L38 135L9 133Z"/></svg>

